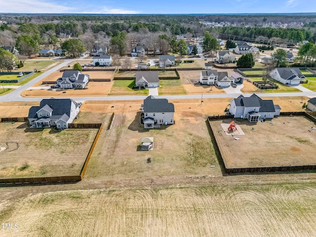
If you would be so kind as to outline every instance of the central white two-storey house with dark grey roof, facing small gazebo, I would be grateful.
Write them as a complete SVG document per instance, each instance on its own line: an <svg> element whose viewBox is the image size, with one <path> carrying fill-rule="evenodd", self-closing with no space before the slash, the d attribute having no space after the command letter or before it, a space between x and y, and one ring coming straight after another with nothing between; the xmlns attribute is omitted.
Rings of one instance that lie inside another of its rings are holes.
<svg viewBox="0 0 316 237"><path fill-rule="evenodd" d="M160 124L174 124L174 105L167 99L157 99L148 96L142 107L144 113L144 127L154 128Z"/></svg>

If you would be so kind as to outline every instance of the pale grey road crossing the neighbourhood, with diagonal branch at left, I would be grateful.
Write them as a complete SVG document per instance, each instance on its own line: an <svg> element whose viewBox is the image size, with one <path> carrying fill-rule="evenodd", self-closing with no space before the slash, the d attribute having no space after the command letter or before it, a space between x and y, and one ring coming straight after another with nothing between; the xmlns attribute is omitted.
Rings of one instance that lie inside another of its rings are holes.
<svg viewBox="0 0 316 237"><path fill-rule="evenodd" d="M47 59L46 59L47 60ZM13 90L12 92L0 96L0 102L15 102L15 101L41 101L47 97L22 97L20 94L27 88L31 87L41 79L49 76L53 72L59 70L60 68L67 66L70 62L78 61L84 59L66 59L63 63L57 65L56 67L49 69L48 71L41 74L39 77L29 81L28 83L20 86L19 88ZM38 61L38 60L37 60ZM250 94L243 94L244 96L250 96ZM288 97L288 96L308 96L310 98L316 97L316 92L290 92L290 93L256 93L260 97ZM229 94L207 94L203 95L203 98L236 98L240 93L229 93ZM200 99L202 95L168 95L168 96L158 96L160 98L166 99ZM147 96L86 96L86 97L67 97L74 99L76 101L87 101L87 100L144 100Z"/></svg>

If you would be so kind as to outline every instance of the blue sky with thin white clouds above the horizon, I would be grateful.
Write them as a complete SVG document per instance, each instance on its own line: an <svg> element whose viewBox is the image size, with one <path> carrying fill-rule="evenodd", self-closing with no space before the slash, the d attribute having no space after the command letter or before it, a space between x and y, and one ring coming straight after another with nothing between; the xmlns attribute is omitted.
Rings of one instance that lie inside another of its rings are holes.
<svg viewBox="0 0 316 237"><path fill-rule="evenodd" d="M315 0L0 0L1 13L214 14L316 12Z"/></svg>

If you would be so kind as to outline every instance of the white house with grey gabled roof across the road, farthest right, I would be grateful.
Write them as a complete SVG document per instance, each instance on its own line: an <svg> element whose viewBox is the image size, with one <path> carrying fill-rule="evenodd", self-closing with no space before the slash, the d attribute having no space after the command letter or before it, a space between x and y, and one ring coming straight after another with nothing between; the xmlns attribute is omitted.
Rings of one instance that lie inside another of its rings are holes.
<svg viewBox="0 0 316 237"><path fill-rule="evenodd" d="M305 79L299 68L276 68L269 75L285 85L298 85Z"/></svg>

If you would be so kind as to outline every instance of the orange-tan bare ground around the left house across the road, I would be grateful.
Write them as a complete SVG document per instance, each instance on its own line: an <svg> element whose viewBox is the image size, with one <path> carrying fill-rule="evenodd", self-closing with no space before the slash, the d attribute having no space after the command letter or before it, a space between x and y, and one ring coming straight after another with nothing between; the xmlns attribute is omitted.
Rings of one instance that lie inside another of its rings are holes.
<svg viewBox="0 0 316 237"><path fill-rule="evenodd" d="M48 90L50 85L42 86L42 89L30 89L21 93L23 97L68 97L68 96L105 96L108 95L113 81L90 81L87 89Z"/></svg>

